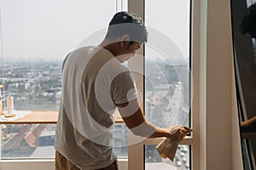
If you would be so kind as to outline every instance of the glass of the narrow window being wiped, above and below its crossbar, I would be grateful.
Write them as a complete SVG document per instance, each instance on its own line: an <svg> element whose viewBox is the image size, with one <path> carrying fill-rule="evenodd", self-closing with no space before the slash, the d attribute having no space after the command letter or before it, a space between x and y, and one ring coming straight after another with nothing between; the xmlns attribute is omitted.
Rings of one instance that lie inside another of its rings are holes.
<svg viewBox="0 0 256 170"><path fill-rule="evenodd" d="M159 127L190 126L189 15L189 0L145 1L145 115ZM144 150L147 170L189 169L189 146L179 146L173 162L154 147Z"/></svg>

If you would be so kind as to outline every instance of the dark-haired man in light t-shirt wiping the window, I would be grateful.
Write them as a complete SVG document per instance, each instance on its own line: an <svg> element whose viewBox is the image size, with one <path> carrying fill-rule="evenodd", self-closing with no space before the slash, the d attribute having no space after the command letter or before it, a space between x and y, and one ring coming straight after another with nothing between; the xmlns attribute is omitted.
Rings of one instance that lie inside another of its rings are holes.
<svg viewBox="0 0 256 170"><path fill-rule="evenodd" d="M183 138L182 130L171 134L145 119L131 72L121 65L147 39L141 18L119 12L110 21L100 45L79 48L67 55L55 137L56 170L118 169L112 132L116 108L136 135Z"/></svg>

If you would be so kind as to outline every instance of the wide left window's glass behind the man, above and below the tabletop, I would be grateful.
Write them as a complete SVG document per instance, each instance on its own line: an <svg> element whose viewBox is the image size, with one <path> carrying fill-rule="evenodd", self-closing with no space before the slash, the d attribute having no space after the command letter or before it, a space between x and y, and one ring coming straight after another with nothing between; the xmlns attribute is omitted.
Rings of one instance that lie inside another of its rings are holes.
<svg viewBox="0 0 256 170"><path fill-rule="evenodd" d="M127 10L127 0L0 0L0 7L3 97L14 97L16 111L57 111L62 60L75 48L102 41L113 14ZM97 31L100 37L90 40ZM86 38L90 42L84 42ZM2 159L55 156L55 125L0 126ZM127 156L126 131L117 123L114 135L120 138L114 150L118 156Z"/></svg>

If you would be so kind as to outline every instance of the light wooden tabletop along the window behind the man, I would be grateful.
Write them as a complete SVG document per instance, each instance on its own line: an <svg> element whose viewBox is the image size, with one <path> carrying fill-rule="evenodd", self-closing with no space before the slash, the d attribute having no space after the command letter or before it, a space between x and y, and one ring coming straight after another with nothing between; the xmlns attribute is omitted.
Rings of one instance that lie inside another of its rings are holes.
<svg viewBox="0 0 256 170"><path fill-rule="evenodd" d="M15 121L0 121L0 124L52 124L58 120L58 111L32 111ZM114 113L115 122L123 122L119 113Z"/></svg>

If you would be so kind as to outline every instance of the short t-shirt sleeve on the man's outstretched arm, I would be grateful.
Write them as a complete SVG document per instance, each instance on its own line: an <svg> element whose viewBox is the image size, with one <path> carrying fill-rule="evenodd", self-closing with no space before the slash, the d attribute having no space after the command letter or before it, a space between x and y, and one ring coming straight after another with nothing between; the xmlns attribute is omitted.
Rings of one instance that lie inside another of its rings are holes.
<svg viewBox="0 0 256 170"><path fill-rule="evenodd" d="M130 71L124 71L113 79L111 96L114 104L124 104L137 99L137 88Z"/></svg>

